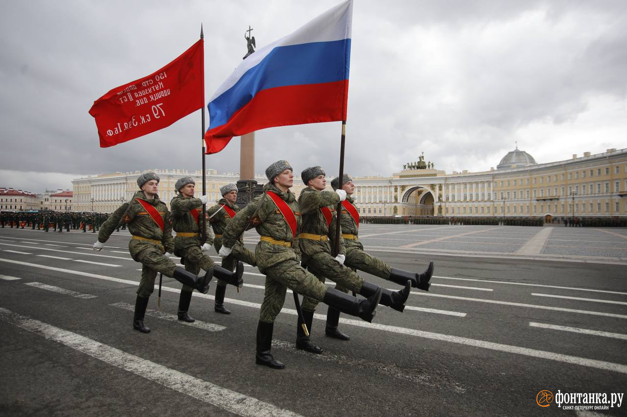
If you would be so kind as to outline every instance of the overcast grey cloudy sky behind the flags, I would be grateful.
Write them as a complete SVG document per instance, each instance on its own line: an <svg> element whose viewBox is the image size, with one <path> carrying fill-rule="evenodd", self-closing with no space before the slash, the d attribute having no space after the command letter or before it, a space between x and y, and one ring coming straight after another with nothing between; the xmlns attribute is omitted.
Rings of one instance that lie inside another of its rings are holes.
<svg viewBox="0 0 627 417"><path fill-rule="evenodd" d="M0 16L0 187L201 168L201 113L100 148L93 101L205 39L209 98L246 53L340 3L9 1ZM489 170L518 143L538 163L627 147L627 2L355 0L345 172L391 175L426 161ZM205 109L206 111L206 109ZM209 121L206 122L209 126ZM256 133L255 171L339 169L340 123ZM282 147L277 151L277 147ZM239 170L239 142L206 166Z"/></svg>

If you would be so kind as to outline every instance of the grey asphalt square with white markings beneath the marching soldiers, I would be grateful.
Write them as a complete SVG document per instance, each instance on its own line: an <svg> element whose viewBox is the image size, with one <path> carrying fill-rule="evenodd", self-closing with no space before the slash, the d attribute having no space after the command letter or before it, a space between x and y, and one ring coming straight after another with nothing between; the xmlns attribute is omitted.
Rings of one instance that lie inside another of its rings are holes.
<svg viewBox="0 0 627 417"><path fill-rule="evenodd" d="M324 336L320 304L320 355L295 348L288 292L272 348L286 368L273 370L255 364L265 280L255 267L240 292L228 287L229 316L213 311L213 283L195 292L192 324L177 321L181 285L164 277L141 334L128 232L94 252L96 234L0 229L0 414L626 414L626 229L365 224L359 234L393 267L433 260L430 291L412 289L403 313L377 307L372 324L342 315L350 341Z"/></svg>

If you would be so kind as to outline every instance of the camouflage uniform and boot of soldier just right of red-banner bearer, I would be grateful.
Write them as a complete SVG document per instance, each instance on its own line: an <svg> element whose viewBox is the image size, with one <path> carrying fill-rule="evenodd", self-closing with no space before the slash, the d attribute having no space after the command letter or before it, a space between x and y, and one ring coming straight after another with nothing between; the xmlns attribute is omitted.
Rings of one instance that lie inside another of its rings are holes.
<svg viewBox="0 0 627 417"><path fill-rule="evenodd" d="M213 247L216 249L216 252L220 251L222 247L222 234L224 233L224 229L231 221L231 216L222 209L222 205L226 205L231 210L233 210L236 214L240 211L240 207L238 205L231 205L226 201L226 198L221 198L218 204L210 207L207 210L208 217L211 217L211 226L213 227L213 232L215 234L215 238L213 240ZM220 211L218 214L216 214ZM214 215L215 214L215 215ZM256 266L255 262L255 254L252 250L244 247L244 237L240 235L239 239L236 240L233 245L233 252L228 255L226 258L222 260L222 267L224 269L233 270L235 268L235 263L241 260L242 262L246 262L248 265ZM226 292L226 284L222 281L218 281L216 286L216 303L214 309L218 312L223 312L224 314L229 314L230 312L224 308L224 292Z"/></svg>

